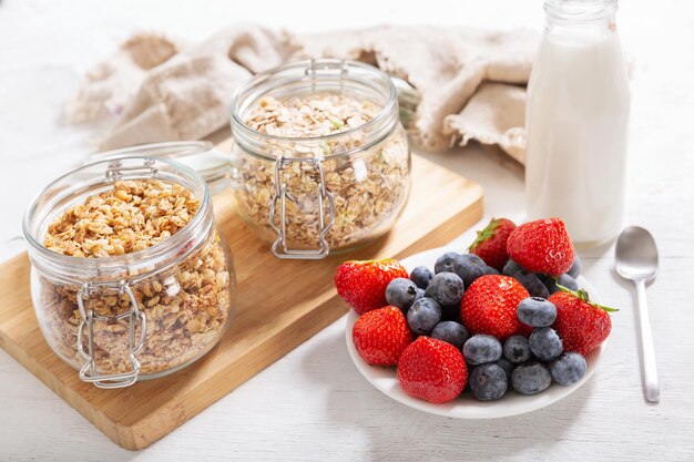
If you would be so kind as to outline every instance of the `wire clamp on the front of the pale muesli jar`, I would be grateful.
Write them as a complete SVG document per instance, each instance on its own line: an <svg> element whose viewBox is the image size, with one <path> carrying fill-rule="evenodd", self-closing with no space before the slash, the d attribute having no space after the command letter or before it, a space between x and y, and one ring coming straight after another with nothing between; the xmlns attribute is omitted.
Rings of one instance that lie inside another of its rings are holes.
<svg viewBox="0 0 694 462"><path fill-rule="evenodd" d="M316 197L318 199L318 243L317 248L314 249L290 249L287 245L287 201L297 204L296 198L287 192L287 185L283 179L283 172L293 162L313 164L313 167L318 174L318 182L316 187ZM324 207L324 201L328 202L329 219L326 223L326 211ZM275 224L275 215L277 211L277 203L279 202L279 226ZM328 192L325 186L325 175L323 172L323 158L300 158L289 160L280 157L275 164L275 194L273 195L269 206L269 226L277 233L277 239L273 244L272 253L277 258L292 258L292 259L319 259L325 258L329 251L330 246L327 242L327 234L335 223L335 196Z"/></svg>

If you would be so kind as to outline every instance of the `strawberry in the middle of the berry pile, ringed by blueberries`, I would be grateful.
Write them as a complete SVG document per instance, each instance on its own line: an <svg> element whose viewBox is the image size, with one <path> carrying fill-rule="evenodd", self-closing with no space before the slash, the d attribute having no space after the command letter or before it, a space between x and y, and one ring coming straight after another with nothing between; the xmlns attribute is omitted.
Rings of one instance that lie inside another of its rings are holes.
<svg viewBox="0 0 694 462"><path fill-rule="evenodd" d="M530 328L518 320L516 311L528 290L510 276L487 275L468 287L460 304L460 318L474 333L487 333L503 341Z"/></svg>

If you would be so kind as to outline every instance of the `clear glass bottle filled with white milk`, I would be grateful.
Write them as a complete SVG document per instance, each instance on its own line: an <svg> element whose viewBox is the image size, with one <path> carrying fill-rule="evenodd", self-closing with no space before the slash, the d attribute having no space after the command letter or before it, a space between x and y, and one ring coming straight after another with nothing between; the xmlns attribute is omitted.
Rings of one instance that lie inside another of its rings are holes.
<svg viewBox="0 0 694 462"><path fill-rule="evenodd" d="M547 0L525 109L529 219L561 217L574 242L622 226L629 81L616 0Z"/></svg>

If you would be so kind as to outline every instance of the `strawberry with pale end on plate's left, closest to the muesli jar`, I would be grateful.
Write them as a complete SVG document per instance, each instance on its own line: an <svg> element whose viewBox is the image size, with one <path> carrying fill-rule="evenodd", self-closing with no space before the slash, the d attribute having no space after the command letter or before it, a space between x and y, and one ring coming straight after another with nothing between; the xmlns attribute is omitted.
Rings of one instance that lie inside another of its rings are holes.
<svg viewBox="0 0 694 462"><path fill-rule="evenodd" d="M398 260L350 260L335 273L337 294L358 315L388 305L386 287L398 277L408 277L407 269Z"/></svg>

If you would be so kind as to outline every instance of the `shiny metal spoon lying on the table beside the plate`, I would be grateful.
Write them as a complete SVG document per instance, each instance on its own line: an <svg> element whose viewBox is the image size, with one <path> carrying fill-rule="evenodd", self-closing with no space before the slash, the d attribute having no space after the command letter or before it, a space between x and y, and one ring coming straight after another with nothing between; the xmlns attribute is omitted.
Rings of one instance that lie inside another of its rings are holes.
<svg viewBox="0 0 694 462"><path fill-rule="evenodd" d="M615 265L620 276L633 280L636 285L645 398L649 402L657 403L661 400L661 391L646 305L646 280L654 278L657 270L657 247L651 233L639 226L624 229L616 242Z"/></svg>

